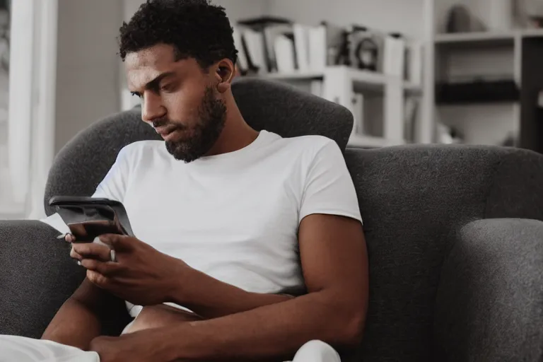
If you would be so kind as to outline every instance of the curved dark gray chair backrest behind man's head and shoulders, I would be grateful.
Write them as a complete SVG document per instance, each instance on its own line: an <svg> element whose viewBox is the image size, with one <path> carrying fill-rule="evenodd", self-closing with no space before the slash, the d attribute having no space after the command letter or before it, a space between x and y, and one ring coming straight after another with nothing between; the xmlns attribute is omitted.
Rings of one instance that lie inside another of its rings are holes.
<svg viewBox="0 0 543 362"><path fill-rule="evenodd" d="M284 137L304 134L327 136L346 147L353 116L346 108L281 83L254 78L240 78L232 91L251 127ZM57 194L90 196L117 153L127 144L143 139L160 139L141 122L140 109L122 112L96 122L83 130L59 152L49 172L45 191L45 210Z"/></svg>

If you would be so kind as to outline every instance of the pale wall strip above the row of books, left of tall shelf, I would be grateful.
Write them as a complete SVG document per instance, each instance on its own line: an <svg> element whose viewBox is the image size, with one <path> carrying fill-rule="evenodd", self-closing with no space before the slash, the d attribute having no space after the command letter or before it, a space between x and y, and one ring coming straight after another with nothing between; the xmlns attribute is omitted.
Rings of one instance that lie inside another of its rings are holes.
<svg viewBox="0 0 543 362"><path fill-rule="evenodd" d="M424 0L269 0L269 13L316 25L356 23L385 31L399 31L421 38Z"/></svg>

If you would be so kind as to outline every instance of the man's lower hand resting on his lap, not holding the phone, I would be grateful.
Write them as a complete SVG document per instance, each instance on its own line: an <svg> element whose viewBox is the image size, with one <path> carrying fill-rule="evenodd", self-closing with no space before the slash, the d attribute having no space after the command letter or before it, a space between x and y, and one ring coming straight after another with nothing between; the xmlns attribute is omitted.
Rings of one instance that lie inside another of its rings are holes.
<svg viewBox="0 0 543 362"><path fill-rule="evenodd" d="M100 362L169 362L172 358L161 348L160 342L167 339L162 334L162 329L148 329L120 337L96 337L89 351L98 353Z"/></svg>

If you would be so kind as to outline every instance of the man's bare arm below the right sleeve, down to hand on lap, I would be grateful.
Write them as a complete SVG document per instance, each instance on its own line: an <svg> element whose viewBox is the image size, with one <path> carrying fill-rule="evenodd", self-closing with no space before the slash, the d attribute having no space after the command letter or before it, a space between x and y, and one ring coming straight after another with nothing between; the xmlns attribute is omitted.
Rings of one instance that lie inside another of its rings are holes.
<svg viewBox="0 0 543 362"><path fill-rule="evenodd" d="M310 215L300 223L299 243L307 295L213 320L97 339L93 349L106 356L136 344L139 351L132 353L153 353L156 361L255 361L291 358L313 339L336 347L358 344L368 305L368 257L361 223Z"/></svg>

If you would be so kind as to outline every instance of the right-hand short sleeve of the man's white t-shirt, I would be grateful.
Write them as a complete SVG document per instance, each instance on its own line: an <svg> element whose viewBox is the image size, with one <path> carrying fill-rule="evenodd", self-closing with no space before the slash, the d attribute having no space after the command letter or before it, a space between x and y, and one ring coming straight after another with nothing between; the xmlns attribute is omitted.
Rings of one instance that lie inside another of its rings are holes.
<svg viewBox="0 0 543 362"><path fill-rule="evenodd" d="M346 216L362 222L351 174L334 141L317 151L305 178L299 221L311 214Z"/></svg>

